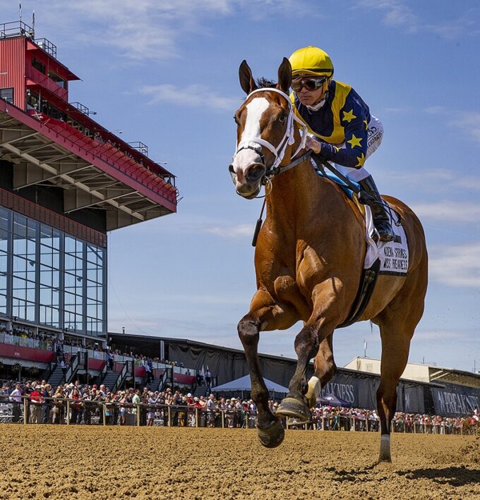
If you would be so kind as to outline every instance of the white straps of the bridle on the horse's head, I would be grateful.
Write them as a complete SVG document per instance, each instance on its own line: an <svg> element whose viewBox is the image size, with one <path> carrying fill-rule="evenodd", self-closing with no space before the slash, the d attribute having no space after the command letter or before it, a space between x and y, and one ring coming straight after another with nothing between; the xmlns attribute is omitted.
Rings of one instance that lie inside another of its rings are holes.
<svg viewBox="0 0 480 500"><path fill-rule="evenodd" d="M264 140L260 137L243 138L240 141L240 143L238 145L236 145L234 157L241 150L246 150L246 149L255 150L256 152L258 152L258 149L260 149L260 157L263 157L263 154L261 154L261 147L264 146L268 150L270 150L270 152L272 152L273 156L275 157L273 163L270 165L270 167L268 167L268 171L272 172L273 170L277 169L278 166L280 166L280 163L282 163L283 157L285 155L285 150L287 150L287 146L291 146L295 142L294 121L296 121L297 123L299 123L301 125L302 132L301 132L301 141L300 141L299 147L296 148L296 151L294 152L294 154L292 154L291 158L294 159L294 157L296 157L296 155L299 154L299 152L305 148L306 125L303 121L301 121L294 114L292 101L290 100L290 97L287 94L285 94L285 92L282 92L282 90L278 90L278 89L274 89L274 88L270 88L270 87L256 89L256 90L253 90L253 92L250 92L250 94L248 94L246 99L248 99L252 94L255 94L256 92L265 92L265 91L277 92L277 94L280 94L282 97L284 97L284 99L288 103L289 114L287 116L287 128L285 129L285 133L283 135L283 138L282 138L282 140L280 140L280 143L279 143L279 145L277 145L277 147L272 145L271 142L268 142L268 140ZM252 143L259 145L260 148L252 147L251 146ZM285 168L287 168L287 166ZM266 165L265 165L265 168L267 168ZM280 167L280 168L282 168L282 167Z"/></svg>

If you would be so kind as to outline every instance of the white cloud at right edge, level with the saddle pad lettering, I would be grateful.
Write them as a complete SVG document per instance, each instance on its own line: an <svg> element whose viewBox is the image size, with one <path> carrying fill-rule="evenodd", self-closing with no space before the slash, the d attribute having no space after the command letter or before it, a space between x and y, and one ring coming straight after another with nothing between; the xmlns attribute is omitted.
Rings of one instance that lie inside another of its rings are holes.
<svg viewBox="0 0 480 500"><path fill-rule="evenodd" d="M447 286L480 287L480 242L465 245L433 245L429 275L433 281Z"/></svg>

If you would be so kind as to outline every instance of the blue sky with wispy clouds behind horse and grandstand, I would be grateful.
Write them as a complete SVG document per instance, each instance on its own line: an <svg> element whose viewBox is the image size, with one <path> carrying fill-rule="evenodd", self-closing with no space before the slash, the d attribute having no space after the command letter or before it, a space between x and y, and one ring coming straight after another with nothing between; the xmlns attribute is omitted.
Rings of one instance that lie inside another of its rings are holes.
<svg viewBox="0 0 480 500"><path fill-rule="evenodd" d="M241 348L261 200L236 195L227 168L238 68L275 79L284 56L314 45L383 123L366 164L380 192L424 225L429 285L409 361L480 370L478 1L24 0L27 24L33 9L35 37L82 79L70 101L148 145L181 195L176 214L109 233L109 331ZM18 3L0 0L0 13L18 20ZM300 329L260 334L260 352L294 358ZM338 366L380 348L369 322L335 331Z"/></svg>

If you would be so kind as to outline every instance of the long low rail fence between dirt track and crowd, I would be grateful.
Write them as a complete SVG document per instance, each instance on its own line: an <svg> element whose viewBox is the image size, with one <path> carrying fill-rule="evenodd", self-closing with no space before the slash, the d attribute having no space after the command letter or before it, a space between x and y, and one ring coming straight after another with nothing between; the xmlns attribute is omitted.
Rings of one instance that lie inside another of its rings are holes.
<svg viewBox="0 0 480 500"><path fill-rule="evenodd" d="M148 403L119 403L114 401L77 401L69 398L42 398L29 396L0 396L0 423L58 424L58 425L133 425L155 427L221 427L254 429L257 415L251 410L208 410L192 406ZM354 416L314 417L300 423L282 419L286 429L323 431L379 432L378 419ZM448 422L426 423L393 420L392 432L412 434L475 434L480 435L480 424L461 425Z"/></svg>

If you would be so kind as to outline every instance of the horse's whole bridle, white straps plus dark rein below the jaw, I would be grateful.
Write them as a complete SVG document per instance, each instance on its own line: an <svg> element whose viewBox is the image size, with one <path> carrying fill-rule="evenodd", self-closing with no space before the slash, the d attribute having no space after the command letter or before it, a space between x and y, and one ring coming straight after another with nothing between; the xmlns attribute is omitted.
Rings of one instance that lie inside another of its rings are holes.
<svg viewBox="0 0 480 500"><path fill-rule="evenodd" d="M284 97L289 106L289 113L287 116L287 127L285 128L285 133L283 135L282 140L280 140L279 144L276 147L272 145L271 142L268 142L268 140L262 139L260 138L260 136L258 136L258 137L243 138L239 142L239 144L236 145L235 148L234 158L236 154L239 154L239 152L241 152L241 150L253 150L258 154L258 156L262 161L263 166L265 167L265 174L263 175L260 182L263 185L265 185L270 181L272 177L278 175L279 173L292 169L296 165L301 164L311 155L311 151L306 152L306 154L292 161L292 163L288 165L284 166L280 165L285 155L285 151L287 150L287 146L289 145L291 146L295 142L294 138L295 121L301 125L301 141L299 147L296 148L296 151L294 152L294 154L292 154L291 158L296 157L296 155L299 154L301 150L304 150L306 141L306 125L294 114L292 101L290 100L290 97L287 94L285 94L285 92L282 92L282 90L278 90L272 87L256 89L250 92L250 94L248 94L246 100L249 97L251 97L251 95L256 94L256 92L276 92L277 94L280 94L282 97ZM270 166L267 166L265 164L265 155L263 154L262 147L266 147L268 150L270 150L270 152L272 152L273 156L275 157Z"/></svg>

